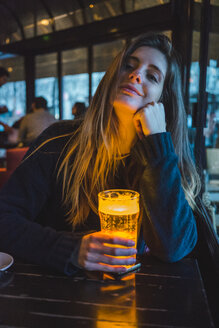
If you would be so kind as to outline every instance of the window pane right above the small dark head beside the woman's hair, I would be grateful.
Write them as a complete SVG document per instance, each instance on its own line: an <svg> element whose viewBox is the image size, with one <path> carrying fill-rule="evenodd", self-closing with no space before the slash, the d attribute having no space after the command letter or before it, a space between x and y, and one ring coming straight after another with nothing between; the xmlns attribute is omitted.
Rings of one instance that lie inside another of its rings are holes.
<svg viewBox="0 0 219 328"><path fill-rule="evenodd" d="M72 119L75 102L89 104L87 48L63 51L63 119Z"/></svg>

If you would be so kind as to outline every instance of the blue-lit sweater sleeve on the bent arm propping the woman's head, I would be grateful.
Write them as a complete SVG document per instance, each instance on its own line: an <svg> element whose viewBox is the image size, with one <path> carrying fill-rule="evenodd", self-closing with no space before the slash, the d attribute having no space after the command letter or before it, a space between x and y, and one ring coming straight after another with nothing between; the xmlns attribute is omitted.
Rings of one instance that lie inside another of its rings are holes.
<svg viewBox="0 0 219 328"><path fill-rule="evenodd" d="M138 140L132 156L143 166L140 193L146 245L152 255L167 262L178 261L195 247L197 229L181 185L170 133Z"/></svg>

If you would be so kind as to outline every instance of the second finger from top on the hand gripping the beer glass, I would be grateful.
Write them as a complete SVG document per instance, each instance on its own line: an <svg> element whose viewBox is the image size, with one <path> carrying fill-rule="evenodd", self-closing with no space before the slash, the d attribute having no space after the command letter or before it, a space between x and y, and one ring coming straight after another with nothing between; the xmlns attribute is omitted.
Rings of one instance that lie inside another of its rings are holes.
<svg viewBox="0 0 219 328"><path fill-rule="evenodd" d="M104 244L95 244L92 243L89 248L90 253L95 254L106 254L113 256L131 256L137 253L136 248L128 247L128 248L119 248L119 247L110 247Z"/></svg>

